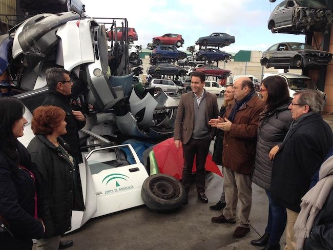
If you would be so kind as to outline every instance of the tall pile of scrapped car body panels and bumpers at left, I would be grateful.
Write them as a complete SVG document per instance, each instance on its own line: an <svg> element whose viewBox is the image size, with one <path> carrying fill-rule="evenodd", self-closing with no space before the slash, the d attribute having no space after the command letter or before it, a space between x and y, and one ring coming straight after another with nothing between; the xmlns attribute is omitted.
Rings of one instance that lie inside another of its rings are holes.
<svg viewBox="0 0 333 250"><path fill-rule="evenodd" d="M6 96L35 95L37 90L45 94L46 70L63 67L74 83L71 97L90 116L110 114L110 124L126 136L168 138L177 102L133 82L127 46L121 40L108 49L105 26L93 18L80 19L74 12L35 15L0 36L0 75L9 76L3 80ZM41 104L39 99L26 105L31 112Z"/></svg>

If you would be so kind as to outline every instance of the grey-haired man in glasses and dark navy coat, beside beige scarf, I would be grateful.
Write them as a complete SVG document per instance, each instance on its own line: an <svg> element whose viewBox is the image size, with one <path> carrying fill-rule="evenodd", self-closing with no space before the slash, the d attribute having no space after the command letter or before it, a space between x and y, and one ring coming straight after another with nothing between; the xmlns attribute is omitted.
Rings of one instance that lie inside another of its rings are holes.
<svg viewBox="0 0 333 250"><path fill-rule="evenodd" d="M301 210L301 198L332 146L332 131L321 116L324 106L324 96L319 91L297 92L289 105L294 121L281 147L274 147L277 153L270 186L272 198L287 209L288 250L296 246L293 227Z"/></svg>

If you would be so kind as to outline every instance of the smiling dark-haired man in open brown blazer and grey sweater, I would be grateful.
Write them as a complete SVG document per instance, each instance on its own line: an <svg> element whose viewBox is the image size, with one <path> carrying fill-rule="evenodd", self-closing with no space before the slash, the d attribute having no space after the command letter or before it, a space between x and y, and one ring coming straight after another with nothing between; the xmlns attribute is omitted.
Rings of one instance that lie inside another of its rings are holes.
<svg viewBox="0 0 333 250"><path fill-rule="evenodd" d="M196 157L196 185L199 199L207 203L205 188L205 162L215 128L209 126L210 119L218 116L216 95L204 90L205 74L194 72L191 77L192 91L180 97L175 121L175 145L183 146L184 168L182 184L186 196L183 204L188 203L188 193L194 157Z"/></svg>

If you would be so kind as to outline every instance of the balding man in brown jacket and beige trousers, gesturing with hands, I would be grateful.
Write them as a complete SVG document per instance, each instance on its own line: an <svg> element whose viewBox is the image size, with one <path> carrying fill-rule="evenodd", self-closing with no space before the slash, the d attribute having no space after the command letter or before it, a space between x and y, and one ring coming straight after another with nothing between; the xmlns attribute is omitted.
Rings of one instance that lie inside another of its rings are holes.
<svg viewBox="0 0 333 250"><path fill-rule="evenodd" d="M234 224L237 211L239 222L233 237L242 238L249 232L251 173L255 163L259 115L264 102L258 97L248 77L238 78L233 92L235 103L227 107L223 122L221 119L210 121L211 126L224 131L222 162L226 201L223 214L213 217L212 222ZM237 201L240 203L238 210Z"/></svg>

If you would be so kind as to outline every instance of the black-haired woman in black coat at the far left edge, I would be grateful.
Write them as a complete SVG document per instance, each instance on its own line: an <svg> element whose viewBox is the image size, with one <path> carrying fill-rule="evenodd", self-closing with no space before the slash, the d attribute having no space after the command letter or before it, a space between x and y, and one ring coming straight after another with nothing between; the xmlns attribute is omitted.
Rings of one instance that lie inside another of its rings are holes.
<svg viewBox="0 0 333 250"><path fill-rule="evenodd" d="M28 151L16 139L23 136L27 123L24 111L19 100L0 98L0 220L11 232L0 233L1 250L31 250L32 239L44 236L35 188L40 176Z"/></svg>

